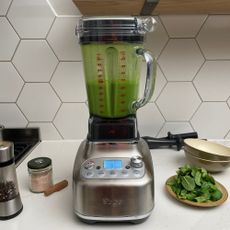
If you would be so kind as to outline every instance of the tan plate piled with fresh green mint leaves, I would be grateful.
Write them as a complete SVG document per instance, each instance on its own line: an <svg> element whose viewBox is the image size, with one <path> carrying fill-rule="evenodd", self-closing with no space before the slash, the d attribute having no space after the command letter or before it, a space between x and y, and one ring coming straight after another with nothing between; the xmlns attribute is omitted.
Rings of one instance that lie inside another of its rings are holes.
<svg viewBox="0 0 230 230"><path fill-rule="evenodd" d="M226 188L206 169L188 164L168 178L166 190L180 202L197 207L216 207L228 198Z"/></svg>

